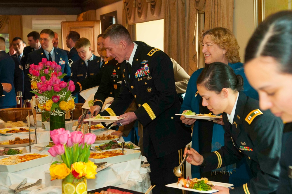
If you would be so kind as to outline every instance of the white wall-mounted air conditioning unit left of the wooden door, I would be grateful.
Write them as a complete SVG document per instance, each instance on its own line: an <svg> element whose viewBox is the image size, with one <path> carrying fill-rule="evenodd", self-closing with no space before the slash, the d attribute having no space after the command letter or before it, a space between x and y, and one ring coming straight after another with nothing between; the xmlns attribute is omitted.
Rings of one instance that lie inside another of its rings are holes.
<svg viewBox="0 0 292 194"><path fill-rule="evenodd" d="M66 18L32 18L32 29L61 29L61 22Z"/></svg>

